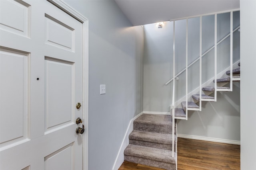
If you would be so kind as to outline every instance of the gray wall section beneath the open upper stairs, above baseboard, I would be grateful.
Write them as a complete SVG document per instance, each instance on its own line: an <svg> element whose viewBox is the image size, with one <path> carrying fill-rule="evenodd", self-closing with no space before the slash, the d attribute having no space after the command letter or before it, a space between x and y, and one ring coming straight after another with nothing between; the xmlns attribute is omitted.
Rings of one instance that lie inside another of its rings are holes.
<svg viewBox="0 0 256 170"><path fill-rule="evenodd" d="M240 83L233 92L218 92L217 102L202 102L202 111L189 111L178 120L178 134L240 141Z"/></svg>

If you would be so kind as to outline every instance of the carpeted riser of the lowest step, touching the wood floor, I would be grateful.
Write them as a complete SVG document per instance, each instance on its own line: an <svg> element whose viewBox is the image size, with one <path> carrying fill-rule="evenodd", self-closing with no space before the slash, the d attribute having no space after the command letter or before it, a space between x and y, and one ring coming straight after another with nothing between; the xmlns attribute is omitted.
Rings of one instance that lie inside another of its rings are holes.
<svg viewBox="0 0 256 170"><path fill-rule="evenodd" d="M136 164L143 164L143 165L163 168L166 170L176 170L175 162L173 163L159 162L155 160L149 160L146 158L139 158L136 156L129 156L129 155L124 155L124 160L128 162L134 162Z"/></svg>

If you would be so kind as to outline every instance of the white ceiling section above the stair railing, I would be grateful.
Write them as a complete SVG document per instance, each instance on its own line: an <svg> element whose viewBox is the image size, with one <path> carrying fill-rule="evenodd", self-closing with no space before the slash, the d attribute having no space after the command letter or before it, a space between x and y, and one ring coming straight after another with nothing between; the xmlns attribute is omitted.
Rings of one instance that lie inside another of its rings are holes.
<svg viewBox="0 0 256 170"><path fill-rule="evenodd" d="M239 0L115 0L132 25L240 8Z"/></svg>

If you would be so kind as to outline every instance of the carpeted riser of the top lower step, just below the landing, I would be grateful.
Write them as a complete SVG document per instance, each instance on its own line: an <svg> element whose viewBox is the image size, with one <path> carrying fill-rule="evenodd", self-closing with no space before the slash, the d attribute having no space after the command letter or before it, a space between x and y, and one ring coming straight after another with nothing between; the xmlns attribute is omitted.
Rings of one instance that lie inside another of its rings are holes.
<svg viewBox="0 0 256 170"><path fill-rule="evenodd" d="M152 124L140 123L140 122L134 121L133 129L138 130L138 131L172 134L172 126L171 125L152 125ZM175 131L175 133L176 133L176 131Z"/></svg>

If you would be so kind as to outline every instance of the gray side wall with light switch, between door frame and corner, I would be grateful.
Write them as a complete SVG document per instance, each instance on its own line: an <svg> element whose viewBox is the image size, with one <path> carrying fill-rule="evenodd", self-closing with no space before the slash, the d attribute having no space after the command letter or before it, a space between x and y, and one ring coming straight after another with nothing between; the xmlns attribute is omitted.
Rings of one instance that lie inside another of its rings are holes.
<svg viewBox="0 0 256 170"><path fill-rule="evenodd" d="M143 28L131 27L114 1L66 2L89 20L88 169L110 170L130 120L143 111Z"/></svg>

